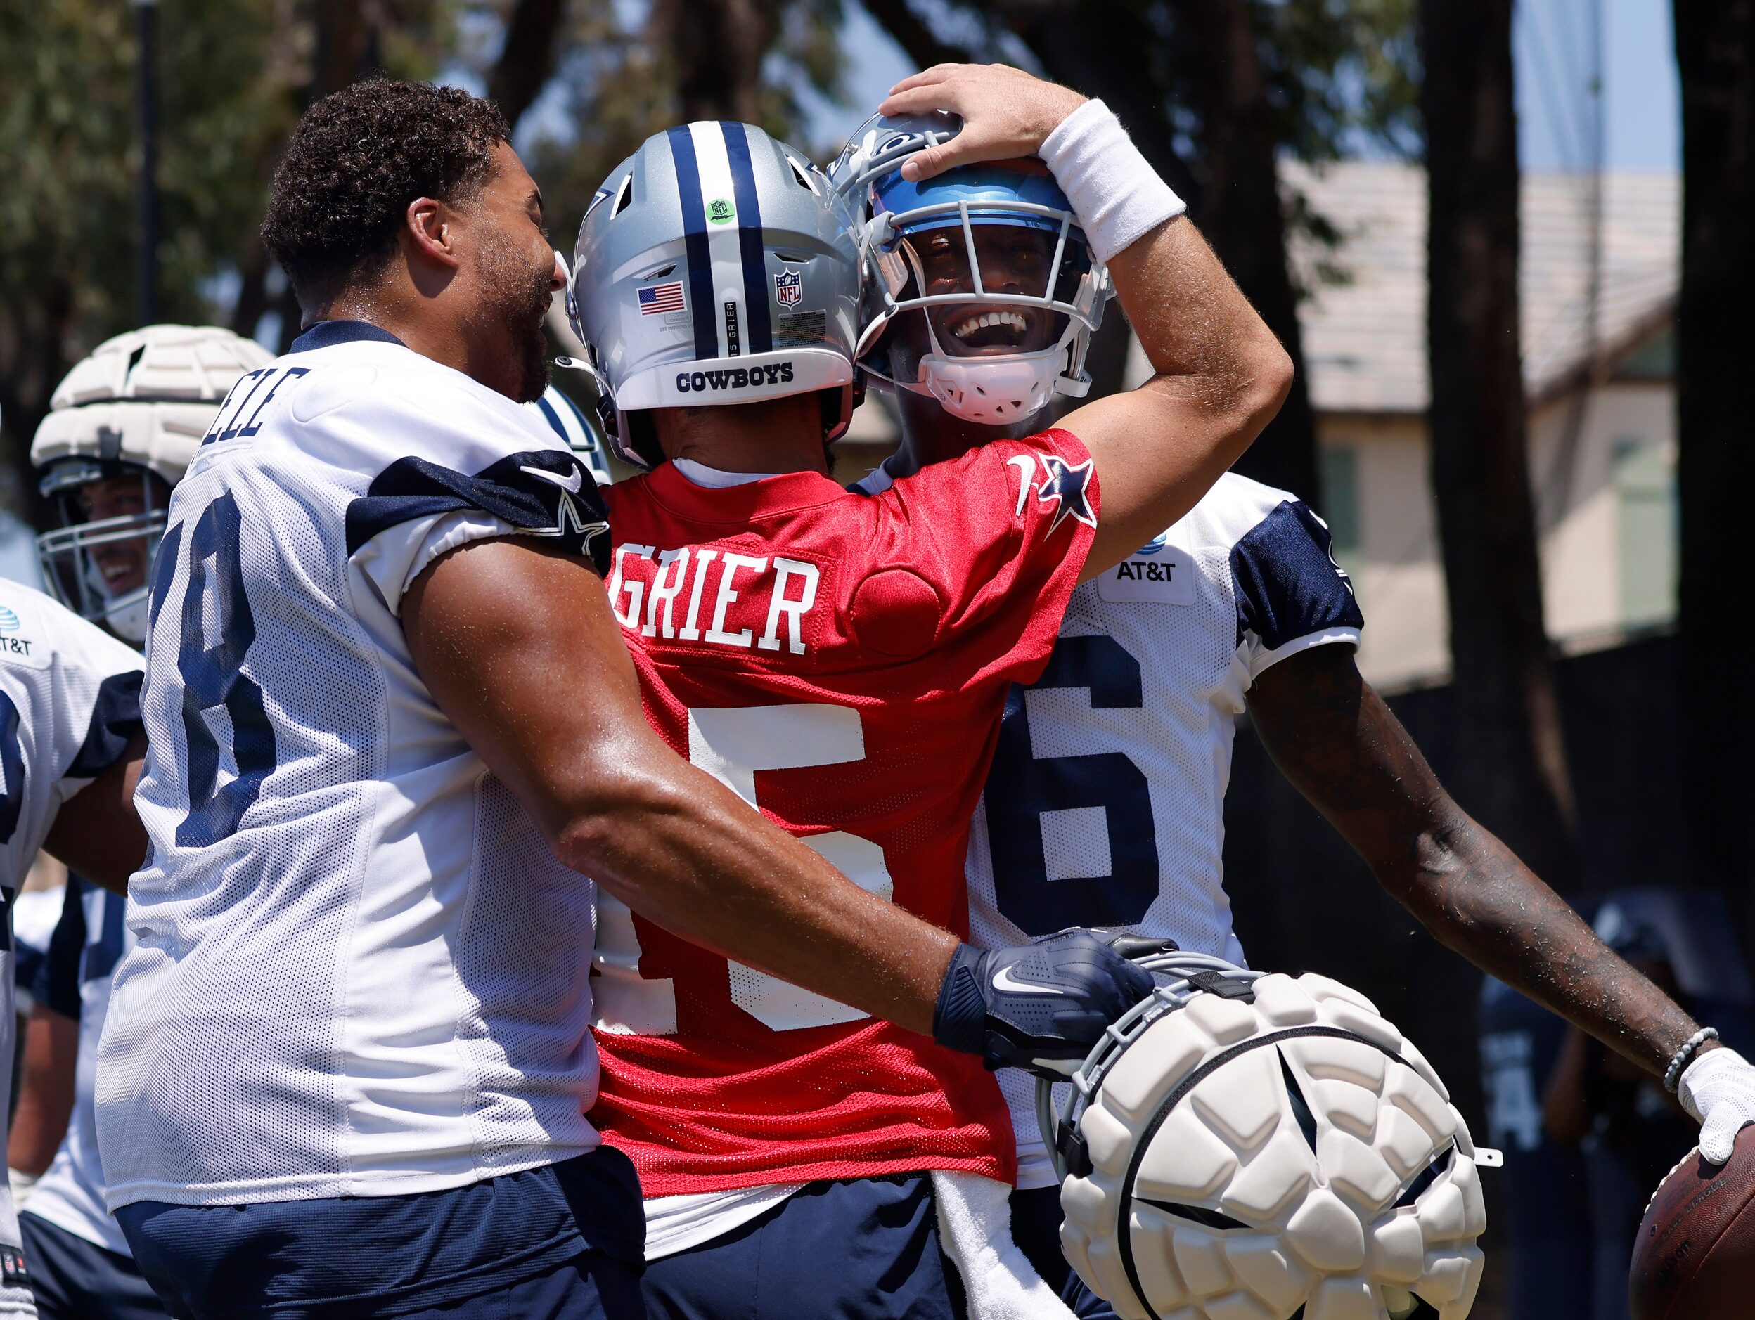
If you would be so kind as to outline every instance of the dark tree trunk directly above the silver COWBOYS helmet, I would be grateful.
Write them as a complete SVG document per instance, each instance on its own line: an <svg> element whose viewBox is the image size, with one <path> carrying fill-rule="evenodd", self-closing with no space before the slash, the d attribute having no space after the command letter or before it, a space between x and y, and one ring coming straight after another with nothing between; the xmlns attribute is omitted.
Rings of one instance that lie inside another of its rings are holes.
<svg viewBox="0 0 1755 1320"><path fill-rule="evenodd" d="M776 0L653 0L651 33L670 56L684 121L762 123L762 60L779 33Z"/></svg>

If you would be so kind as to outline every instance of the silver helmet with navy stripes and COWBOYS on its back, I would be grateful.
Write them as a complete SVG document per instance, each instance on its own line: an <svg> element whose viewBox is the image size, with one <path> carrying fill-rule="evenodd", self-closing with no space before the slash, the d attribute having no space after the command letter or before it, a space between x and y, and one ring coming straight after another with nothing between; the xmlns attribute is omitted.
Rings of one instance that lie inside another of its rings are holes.
<svg viewBox="0 0 1755 1320"><path fill-rule="evenodd" d="M860 260L828 181L753 125L646 139L597 190L567 286L579 365L612 400L611 446L660 462L639 412L830 391L853 412Z"/></svg>

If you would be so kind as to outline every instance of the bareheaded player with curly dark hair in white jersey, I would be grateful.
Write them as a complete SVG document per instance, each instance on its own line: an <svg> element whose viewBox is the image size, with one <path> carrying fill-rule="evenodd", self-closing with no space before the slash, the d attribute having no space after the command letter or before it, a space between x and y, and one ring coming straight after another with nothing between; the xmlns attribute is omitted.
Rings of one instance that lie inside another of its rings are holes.
<svg viewBox="0 0 1755 1320"><path fill-rule="evenodd" d="M1139 988L1020 951L1064 992L1034 1030L646 723L595 481L521 407L563 281L507 137L414 82L304 114L263 239L305 330L170 499L97 1132L174 1315L641 1313L639 1185L584 1118L586 876L974 1051L1074 1050Z"/></svg>

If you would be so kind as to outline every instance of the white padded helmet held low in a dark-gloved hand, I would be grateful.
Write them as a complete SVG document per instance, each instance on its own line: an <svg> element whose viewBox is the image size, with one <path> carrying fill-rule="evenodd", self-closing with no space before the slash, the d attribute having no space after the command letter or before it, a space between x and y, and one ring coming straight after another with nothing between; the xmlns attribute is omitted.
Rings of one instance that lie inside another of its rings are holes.
<svg viewBox="0 0 1755 1320"><path fill-rule="evenodd" d="M1141 960L1167 983L1072 1078L1042 1136L1067 1260L1125 1320L1462 1320L1481 1166L1444 1083L1323 976Z"/></svg>

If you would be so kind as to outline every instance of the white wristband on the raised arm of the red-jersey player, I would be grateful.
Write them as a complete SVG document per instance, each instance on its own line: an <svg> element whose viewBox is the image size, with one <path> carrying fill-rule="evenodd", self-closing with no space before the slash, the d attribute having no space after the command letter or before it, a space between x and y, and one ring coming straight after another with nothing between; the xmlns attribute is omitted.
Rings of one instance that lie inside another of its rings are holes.
<svg viewBox="0 0 1755 1320"><path fill-rule="evenodd" d="M1100 100L1088 100L1062 119L1042 142L1041 156L1072 202L1099 262L1188 209Z"/></svg>

